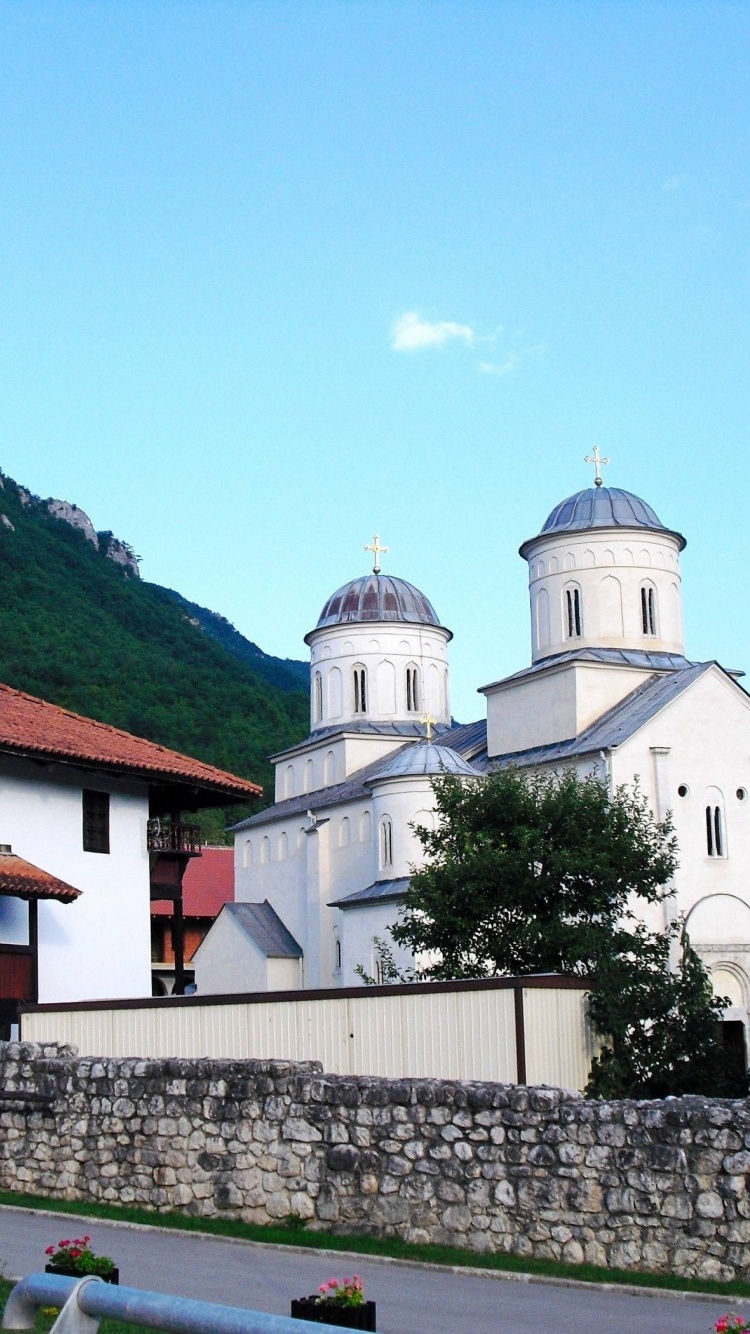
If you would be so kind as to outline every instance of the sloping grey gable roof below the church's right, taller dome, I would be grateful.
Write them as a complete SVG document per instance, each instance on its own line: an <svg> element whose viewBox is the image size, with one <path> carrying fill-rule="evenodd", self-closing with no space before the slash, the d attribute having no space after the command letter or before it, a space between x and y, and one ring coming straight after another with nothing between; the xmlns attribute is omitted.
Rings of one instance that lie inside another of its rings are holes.
<svg viewBox="0 0 750 1334"><path fill-rule="evenodd" d="M598 754L613 750L634 736L651 718L671 704L699 676L703 676L718 663L694 663L685 671L670 676L651 676L630 691L619 704L609 708L590 727L569 740L552 742L550 746L535 746L526 751L512 751L494 755L491 764L519 764L522 768L532 764L554 764L558 760L573 759L577 755ZM723 668L719 668L723 670ZM742 687L738 687L742 690Z"/></svg>

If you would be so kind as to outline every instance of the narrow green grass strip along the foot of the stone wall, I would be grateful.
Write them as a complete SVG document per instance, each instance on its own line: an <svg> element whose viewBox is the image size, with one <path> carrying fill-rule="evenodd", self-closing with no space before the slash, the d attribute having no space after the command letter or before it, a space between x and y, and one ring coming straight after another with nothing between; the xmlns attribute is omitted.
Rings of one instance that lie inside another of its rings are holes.
<svg viewBox="0 0 750 1334"><path fill-rule="evenodd" d="M506 1274L539 1274L544 1278L577 1279L583 1283L627 1283L631 1287L657 1287L679 1293L705 1293L714 1297L750 1298L750 1283L734 1281L682 1278L677 1274L654 1274L634 1269L599 1269L597 1265L563 1265L554 1259L527 1259L519 1255L483 1255L455 1246L427 1246L402 1242L395 1237L363 1237L352 1233L312 1231L303 1223L260 1226L238 1218L195 1218L192 1214L152 1213L128 1205L96 1205L83 1201L49 1199L44 1195L21 1195L0 1191L0 1205L20 1209L49 1209L59 1214L85 1215L149 1227L175 1227L185 1233L208 1233L212 1237L239 1237L250 1242L276 1246L308 1246L326 1250L356 1251L358 1255L386 1255L422 1265L446 1265L499 1270ZM55 1241L55 1238L52 1238Z"/></svg>

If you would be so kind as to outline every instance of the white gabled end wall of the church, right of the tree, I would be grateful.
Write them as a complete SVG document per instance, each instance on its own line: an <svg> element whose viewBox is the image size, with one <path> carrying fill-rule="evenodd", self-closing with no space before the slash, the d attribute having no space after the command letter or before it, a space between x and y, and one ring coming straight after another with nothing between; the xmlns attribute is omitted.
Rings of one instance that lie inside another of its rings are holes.
<svg viewBox="0 0 750 1334"><path fill-rule="evenodd" d="M750 795L741 800L737 792L750 794L750 699L719 668L710 670L613 752L613 782L633 783L635 775L654 812L663 818L669 808L674 818L679 867L666 911L686 915L705 962L727 964L747 1005ZM706 806L715 804L725 856L709 855Z"/></svg>

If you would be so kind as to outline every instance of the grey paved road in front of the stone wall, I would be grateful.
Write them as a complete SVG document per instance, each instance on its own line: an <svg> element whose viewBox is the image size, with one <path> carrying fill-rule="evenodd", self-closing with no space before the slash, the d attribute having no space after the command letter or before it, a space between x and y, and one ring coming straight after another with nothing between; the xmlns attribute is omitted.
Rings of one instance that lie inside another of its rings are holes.
<svg viewBox="0 0 750 1334"><path fill-rule="evenodd" d="M681 1301L518 1283L5 1207L0 1267L13 1277L35 1273L44 1267L47 1246L83 1233L91 1233L96 1251L116 1258L120 1279L131 1287L286 1315L290 1298L356 1270L378 1302L379 1334L710 1334L727 1309L750 1317L749 1303L725 1298Z"/></svg>

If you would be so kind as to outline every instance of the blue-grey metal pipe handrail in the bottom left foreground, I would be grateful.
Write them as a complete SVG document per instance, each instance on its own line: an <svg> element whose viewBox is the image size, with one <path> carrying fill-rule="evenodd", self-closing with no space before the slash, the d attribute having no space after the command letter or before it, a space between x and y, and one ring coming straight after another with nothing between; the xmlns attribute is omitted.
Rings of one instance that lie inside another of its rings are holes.
<svg viewBox="0 0 750 1334"><path fill-rule="evenodd" d="M147 1293L140 1287L116 1287L97 1275L79 1279L29 1274L16 1283L8 1298L3 1329L33 1329L40 1306L61 1307L52 1326L59 1334L93 1334L105 1317L169 1334L306 1334L310 1327L307 1321L292 1321L288 1315ZM339 1325L326 1329L331 1334L346 1334Z"/></svg>

